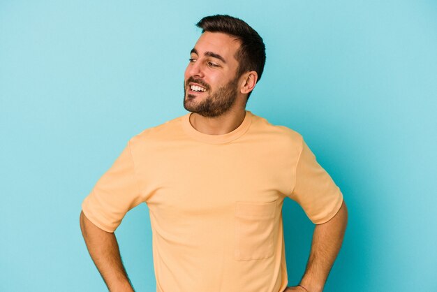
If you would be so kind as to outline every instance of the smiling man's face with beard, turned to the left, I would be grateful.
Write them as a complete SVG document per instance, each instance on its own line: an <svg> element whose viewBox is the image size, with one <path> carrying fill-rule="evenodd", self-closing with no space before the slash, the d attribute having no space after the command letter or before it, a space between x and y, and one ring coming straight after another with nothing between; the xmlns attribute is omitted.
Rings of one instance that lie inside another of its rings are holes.
<svg viewBox="0 0 437 292"><path fill-rule="evenodd" d="M238 96L239 41L205 31L191 50L184 75L184 108L204 117L218 117L232 108Z"/></svg>

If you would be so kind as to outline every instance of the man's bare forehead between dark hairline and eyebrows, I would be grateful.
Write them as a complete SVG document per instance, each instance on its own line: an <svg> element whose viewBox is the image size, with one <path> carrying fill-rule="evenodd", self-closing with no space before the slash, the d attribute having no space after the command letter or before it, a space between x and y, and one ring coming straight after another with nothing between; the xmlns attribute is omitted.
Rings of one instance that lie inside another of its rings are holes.
<svg viewBox="0 0 437 292"><path fill-rule="evenodd" d="M220 54L226 61L231 61L231 59L235 60L239 45L240 42L228 34L205 31L195 43L194 48L199 54L214 52Z"/></svg>

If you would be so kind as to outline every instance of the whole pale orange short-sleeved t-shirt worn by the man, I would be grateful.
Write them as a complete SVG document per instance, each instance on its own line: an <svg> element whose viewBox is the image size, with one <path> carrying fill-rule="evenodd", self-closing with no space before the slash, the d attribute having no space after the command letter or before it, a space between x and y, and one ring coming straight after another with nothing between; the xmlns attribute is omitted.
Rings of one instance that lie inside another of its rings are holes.
<svg viewBox="0 0 437 292"><path fill-rule="evenodd" d="M113 232L147 203L158 292L279 292L287 196L315 224L343 201L295 131L246 111L234 131L207 135L187 114L133 137L82 209Z"/></svg>

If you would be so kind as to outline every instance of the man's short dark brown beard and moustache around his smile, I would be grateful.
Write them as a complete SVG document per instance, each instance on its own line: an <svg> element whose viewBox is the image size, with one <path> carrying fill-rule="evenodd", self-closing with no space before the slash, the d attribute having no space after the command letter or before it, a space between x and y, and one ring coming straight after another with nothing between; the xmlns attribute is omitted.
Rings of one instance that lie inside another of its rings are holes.
<svg viewBox="0 0 437 292"><path fill-rule="evenodd" d="M189 82L195 82L207 89L206 96L202 101L196 103L196 96L193 94L186 94L186 85ZM228 84L218 87L218 89L211 91L211 87L202 80L188 78L184 82L184 108L189 112L195 112L203 117L219 117L225 112L228 112L232 105L237 101L237 83L238 78L233 78Z"/></svg>

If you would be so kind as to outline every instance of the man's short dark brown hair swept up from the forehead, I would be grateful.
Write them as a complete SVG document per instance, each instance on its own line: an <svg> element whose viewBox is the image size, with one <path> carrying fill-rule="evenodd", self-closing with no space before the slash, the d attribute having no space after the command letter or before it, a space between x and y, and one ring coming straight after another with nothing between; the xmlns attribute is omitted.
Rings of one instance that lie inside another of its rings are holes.
<svg viewBox="0 0 437 292"><path fill-rule="evenodd" d="M241 42L235 54L235 59L239 63L237 77L245 72L255 71L258 81L261 79L265 65L265 45L258 32L249 24L229 15L212 15L203 17L196 26L202 29L202 34L205 31L221 32L237 38Z"/></svg>

